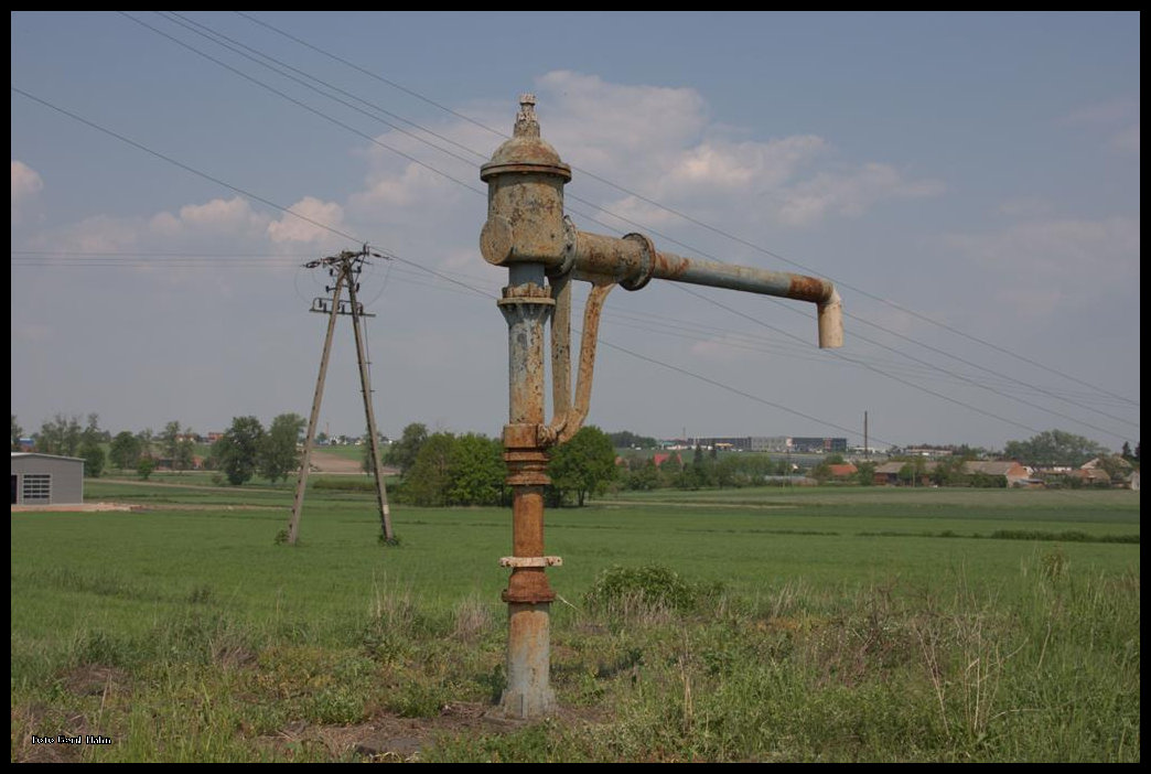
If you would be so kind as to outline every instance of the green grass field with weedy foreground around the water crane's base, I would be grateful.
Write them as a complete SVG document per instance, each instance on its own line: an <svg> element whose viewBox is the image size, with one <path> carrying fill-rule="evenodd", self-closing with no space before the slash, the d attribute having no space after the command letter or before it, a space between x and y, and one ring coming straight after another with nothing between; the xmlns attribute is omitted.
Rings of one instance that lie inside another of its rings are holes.
<svg viewBox="0 0 1151 774"><path fill-rule="evenodd" d="M85 493L145 509L12 515L13 760L1139 759L1137 493L550 510L563 712L520 729L479 719L503 678L508 510L394 508L386 548L371 495L312 491L288 547L290 483ZM683 593L608 593L617 566ZM60 734L112 743L31 743Z"/></svg>

